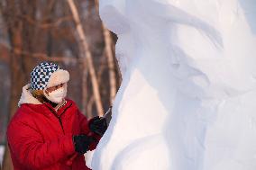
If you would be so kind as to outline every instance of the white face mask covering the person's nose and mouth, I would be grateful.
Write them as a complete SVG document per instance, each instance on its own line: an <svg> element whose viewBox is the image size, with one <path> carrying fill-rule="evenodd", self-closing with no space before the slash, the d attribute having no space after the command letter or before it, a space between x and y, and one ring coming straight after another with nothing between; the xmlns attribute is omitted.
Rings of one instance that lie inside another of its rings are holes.
<svg viewBox="0 0 256 170"><path fill-rule="evenodd" d="M48 100L50 100L51 102L61 103L67 95L67 86L63 85L62 87L50 92L49 94L46 94L45 91L43 91L43 93L44 93L45 97Z"/></svg>

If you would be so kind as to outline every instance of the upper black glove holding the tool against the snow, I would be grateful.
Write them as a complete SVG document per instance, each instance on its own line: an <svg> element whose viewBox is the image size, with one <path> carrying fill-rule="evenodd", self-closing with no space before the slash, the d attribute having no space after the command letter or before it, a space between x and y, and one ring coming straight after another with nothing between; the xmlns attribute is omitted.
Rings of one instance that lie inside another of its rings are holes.
<svg viewBox="0 0 256 170"><path fill-rule="evenodd" d="M89 129L96 134L103 136L105 130L107 129L107 123L105 118L99 118L98 116L94 117L89 123Z"/></svg>

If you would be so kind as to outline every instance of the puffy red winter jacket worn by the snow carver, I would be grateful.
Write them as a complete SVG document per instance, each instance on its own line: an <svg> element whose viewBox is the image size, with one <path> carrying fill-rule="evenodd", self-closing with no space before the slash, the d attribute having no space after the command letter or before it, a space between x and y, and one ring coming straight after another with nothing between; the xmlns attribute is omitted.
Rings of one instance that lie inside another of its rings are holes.
<svg viewBox="0 0 256 170"><path fill-rule="evenodd" d="M72 136L78 134L96 137L90 150L96 148L100 138L73 101L67 99L58 112L49 103L23 103L7 129L14 170L88 170L73 146Z"/></svg>

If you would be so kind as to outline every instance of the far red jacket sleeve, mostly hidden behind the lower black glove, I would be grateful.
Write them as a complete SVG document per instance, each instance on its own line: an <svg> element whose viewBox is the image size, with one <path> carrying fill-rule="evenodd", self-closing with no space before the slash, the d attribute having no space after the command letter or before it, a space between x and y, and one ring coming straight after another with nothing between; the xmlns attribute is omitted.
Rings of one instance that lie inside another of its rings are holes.
<svg viewBox="0 0 256 170"><path fill-rule="evenodd" d="M92 144L89 147L89 150L96 149L96 146L101 139L101 136L97 135L95 132L89 130L89 123L90 121L87 120L87 117L78 111L78 119L80 120L80 128L82 134L85 134L87 136L93 137L95 139L95 142L92 142Z"/></svg>

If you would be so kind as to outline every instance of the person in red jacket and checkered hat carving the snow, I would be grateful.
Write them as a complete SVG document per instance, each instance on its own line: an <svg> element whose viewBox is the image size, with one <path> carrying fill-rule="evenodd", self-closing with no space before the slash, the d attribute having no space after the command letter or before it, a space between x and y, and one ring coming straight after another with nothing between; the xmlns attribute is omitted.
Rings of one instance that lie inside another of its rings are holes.
<svg viewBox="0 0 256 170"><path fill-rule="evenodd" d="M7 129L14 170L88 170L84 154L106 130L105 118L90 121L67 98L69 72L43 62L23 87Z"/></svg>

